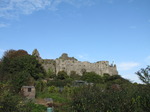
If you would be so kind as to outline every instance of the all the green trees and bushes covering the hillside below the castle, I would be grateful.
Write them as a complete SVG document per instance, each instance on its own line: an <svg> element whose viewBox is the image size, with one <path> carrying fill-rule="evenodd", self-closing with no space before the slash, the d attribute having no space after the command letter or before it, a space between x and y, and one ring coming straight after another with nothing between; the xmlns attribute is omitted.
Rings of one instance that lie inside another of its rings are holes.
<svg viewBox="0 0 150 112"><path fill-rule="evenodd" d="M34 85L36 100L52 98L55 112L150 112L150 66L136 74L145 84L133 84L119 75L81 71L55 74L44 71L35 56L24 50L6 51L0 61L0 112L45 112L20 94L24 85ZM81 86L76 83L85 81Z"/></svg>

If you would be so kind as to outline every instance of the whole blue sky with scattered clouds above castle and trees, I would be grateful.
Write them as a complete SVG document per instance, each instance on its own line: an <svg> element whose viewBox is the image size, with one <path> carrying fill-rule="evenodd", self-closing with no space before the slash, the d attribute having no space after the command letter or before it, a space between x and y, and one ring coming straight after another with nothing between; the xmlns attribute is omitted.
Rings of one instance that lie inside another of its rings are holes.
<svg viewBox="0 0 150 112"><path fill-rule="evenodd" d="M0 0L0 57L37 48L42 58L68 53L80 61L113 61L119 74L150 65L150 0Z"/></svg>

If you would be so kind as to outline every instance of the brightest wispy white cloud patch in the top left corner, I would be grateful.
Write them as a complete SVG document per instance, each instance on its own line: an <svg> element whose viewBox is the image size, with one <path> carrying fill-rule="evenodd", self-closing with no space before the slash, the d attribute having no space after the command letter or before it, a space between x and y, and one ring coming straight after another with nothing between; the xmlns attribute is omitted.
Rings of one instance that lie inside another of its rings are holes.
<svg viewBox="0 0 150 112"><path fill-rule="evenodd" d="M33 11L44 9L51 0L1 0L0 17L9 18L18 14L31 14Z"/></svg>

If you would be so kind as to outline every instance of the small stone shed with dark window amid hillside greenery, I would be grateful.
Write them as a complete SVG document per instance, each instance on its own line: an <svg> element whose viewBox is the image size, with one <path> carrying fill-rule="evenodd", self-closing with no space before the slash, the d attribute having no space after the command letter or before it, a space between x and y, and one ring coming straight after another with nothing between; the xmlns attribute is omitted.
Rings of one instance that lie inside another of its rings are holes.
<svg viewBox="0 0 150 112"><path fill-rule="evenodd" d="M28 99L35 99L35 87L34 86L22 86L21 88L23 96Z"/></svg>

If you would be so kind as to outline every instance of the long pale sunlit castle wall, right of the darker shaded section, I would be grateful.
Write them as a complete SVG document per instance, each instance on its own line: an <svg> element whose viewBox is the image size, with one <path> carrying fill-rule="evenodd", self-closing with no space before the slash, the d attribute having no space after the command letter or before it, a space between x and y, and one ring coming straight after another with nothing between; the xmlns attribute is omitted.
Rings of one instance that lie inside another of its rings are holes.
<svg viewBox="0 0 150 112"><path fill-rule="evenodd" d="M86 72L95 72L99 75L108 73L110 75L117 75L117 69L114 66L110 66L108 61L99 61L96 63L81 62L75 60L56 60L56 74L59 71L66 71L69 75L71 71L76 71L77 74L82 75L82 70L85 69Z"/></svg>

